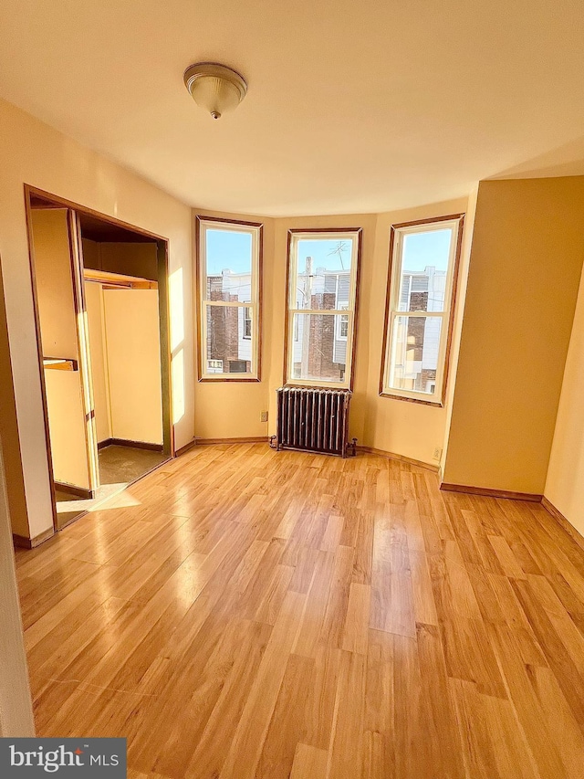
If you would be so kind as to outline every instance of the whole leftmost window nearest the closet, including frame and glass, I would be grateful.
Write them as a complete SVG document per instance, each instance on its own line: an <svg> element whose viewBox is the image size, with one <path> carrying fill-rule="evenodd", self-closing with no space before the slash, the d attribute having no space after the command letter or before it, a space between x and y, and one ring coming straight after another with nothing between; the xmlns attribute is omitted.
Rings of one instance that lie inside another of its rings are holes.
<svg viewBox="0 0 584 779"><path fill-rule="evenodd" d="M262 226L197 217L199 376L259 381Z"/></svg>

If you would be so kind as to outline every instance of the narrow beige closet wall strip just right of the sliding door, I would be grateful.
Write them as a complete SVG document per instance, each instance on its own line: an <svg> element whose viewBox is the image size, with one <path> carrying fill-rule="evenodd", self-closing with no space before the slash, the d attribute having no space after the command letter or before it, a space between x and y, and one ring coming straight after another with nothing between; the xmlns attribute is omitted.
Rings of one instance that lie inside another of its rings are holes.
<svg viewBox="0 0 584 779"><path fill-rule="evenodd" d="M110 393L108 390L103 290L96 281L85 282L85 306L88 312L89 353L93 384L93 407L98 443L111 437Z"/></svg>

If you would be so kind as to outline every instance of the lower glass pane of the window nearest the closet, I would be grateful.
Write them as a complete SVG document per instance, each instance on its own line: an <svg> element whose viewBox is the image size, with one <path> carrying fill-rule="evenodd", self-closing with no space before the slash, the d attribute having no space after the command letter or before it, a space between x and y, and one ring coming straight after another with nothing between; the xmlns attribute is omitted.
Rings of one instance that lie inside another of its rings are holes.
<svg viewBox="0 0 584 779"><path fill-rule="evenodd" d="M206 373L251 374L253 308L248 306L206 306L205 308ZM249 335L246 336L246 332Z"/></svg>

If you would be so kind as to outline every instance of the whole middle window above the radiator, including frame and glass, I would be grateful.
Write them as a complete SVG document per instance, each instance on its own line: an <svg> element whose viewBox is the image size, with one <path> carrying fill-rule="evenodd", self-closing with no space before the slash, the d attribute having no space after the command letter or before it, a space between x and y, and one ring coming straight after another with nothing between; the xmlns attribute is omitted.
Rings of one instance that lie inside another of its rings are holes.
<svg viewBox="0 0 584 779"><path fill-rule="evenodd" d="M287 384L350 387L361 230L288 236Z"/></svg>

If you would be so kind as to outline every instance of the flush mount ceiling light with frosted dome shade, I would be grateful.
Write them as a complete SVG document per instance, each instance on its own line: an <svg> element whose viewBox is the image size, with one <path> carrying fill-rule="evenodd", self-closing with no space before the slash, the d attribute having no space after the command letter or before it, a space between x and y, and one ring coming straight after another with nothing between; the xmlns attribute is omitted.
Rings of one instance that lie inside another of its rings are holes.
<svg viewBox="0 0 584 779"><path fill-rule="evenodd" d="M197 62L186 68L184 84L195 103L214 119L237 108L247 91L244 77L218 62Z"/></svg>

